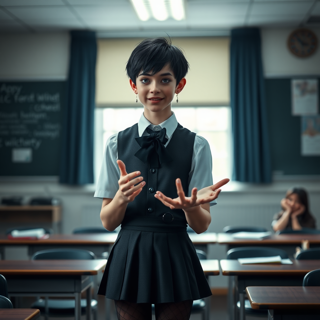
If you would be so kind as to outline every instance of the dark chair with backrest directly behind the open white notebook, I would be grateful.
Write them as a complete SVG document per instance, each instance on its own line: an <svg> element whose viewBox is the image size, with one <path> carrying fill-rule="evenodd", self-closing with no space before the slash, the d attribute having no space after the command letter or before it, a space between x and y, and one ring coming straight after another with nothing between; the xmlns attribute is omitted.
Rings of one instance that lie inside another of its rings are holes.
<svg viewBox="0 0 320 320"><path fill-rule="evenodd" d="M282 249L269 248L269 247L239 247L230 249L227 252L228 260L235 260L239 258L258 258L258 257L273 257L280 256L281 259L287 259L288 254ZM233 290L232 281L229 282L229 292ZM241 293L244 294L244 293ZM240 294L239 294L240 295ZM229 296L229 299L231 297ZM241 300L241 299L240 299ZM237 309L240 310L240 301L236 303ZM251 308L250 301L244 299L245 313L251 316L268 316L268 310L255 310Z"/></svg>

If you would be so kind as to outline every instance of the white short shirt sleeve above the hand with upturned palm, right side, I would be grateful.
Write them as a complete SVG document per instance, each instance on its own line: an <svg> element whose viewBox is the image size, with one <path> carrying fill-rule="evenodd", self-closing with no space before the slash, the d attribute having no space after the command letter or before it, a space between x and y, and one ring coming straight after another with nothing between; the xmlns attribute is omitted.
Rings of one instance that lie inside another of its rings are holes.
<svg viewBox="0 0 320 320"><path fill-rule="evenodd" d="M189 173L188 196L191 196L192 188L200 190L212 185L212 156L210 146L207 140L196 135ZM210 206L215 204L217 204L217 201L213 200Z"/></svg>

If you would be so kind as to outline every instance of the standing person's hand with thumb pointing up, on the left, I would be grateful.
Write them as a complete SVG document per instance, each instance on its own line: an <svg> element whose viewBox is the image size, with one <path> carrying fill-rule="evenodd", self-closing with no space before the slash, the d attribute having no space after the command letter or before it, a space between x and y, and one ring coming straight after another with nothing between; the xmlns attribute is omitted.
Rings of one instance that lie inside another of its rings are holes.
<svg viewBox="0 0 320 320"><path fill-rule="evenodd" d="M117 164L120 169L118 192L125 202L132 202L141 192L146 183L145 181L141 182L141 180L143 180L142 177L137 177L141 174L140 171L127 173L125 170L125 164L121 160L117 160Z"/></svg>

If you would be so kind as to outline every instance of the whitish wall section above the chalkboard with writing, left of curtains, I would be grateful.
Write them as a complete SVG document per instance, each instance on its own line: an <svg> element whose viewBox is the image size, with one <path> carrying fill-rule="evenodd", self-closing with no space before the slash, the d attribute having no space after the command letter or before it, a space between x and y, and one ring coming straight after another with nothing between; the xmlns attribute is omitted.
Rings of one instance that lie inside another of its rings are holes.
<svg viewBox="0 0 320 320"><path fill-rule="evenodd" d="M66 80L69 34L0 34L0 79Z"/></svg>

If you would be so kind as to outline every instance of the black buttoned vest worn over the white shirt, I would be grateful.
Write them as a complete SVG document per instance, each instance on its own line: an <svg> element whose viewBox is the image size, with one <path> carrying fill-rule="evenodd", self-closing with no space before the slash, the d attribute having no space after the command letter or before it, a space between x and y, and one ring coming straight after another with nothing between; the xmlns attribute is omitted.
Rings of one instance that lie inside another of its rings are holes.
<svg viewBox="0 0 320 320"><path fill-rule="evenodd" d="M188 178L195 136L194 132L178 124L166 146L173 160L161 164L159 168L151 168L149 162L144 164L134 156L140 149L135 140L136 137L139 137L138 124L119 132L118 159L124 162L128 173L140 171L143 181L146 181L140 194L128 204L125 212L126 217L133 215L162 217L164 213L170 212L174 218L186 220L183 210L171 210L154 195L156 191L161 191L165 196L176 198L178 195L175 180L180 178L184 193L188 196Z"/></svg>

